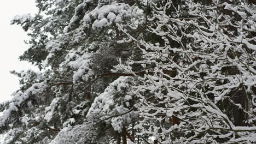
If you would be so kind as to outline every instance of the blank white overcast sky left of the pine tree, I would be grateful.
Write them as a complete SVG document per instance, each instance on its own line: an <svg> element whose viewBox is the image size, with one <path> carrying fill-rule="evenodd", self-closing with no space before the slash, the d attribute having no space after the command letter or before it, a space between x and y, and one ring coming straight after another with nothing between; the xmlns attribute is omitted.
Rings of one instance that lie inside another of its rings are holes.
<svg viewBox="0 0 256 144"><path fill-rule="evenodd" d="M0 4L0 102L10 99L11 93L19 88L18 77L10 70L20 71L31 68L27 62L20 62L19 56L28 48L28 39L20 26L10 25L15 15L37 13L35 0L7 0Z"/></svg>

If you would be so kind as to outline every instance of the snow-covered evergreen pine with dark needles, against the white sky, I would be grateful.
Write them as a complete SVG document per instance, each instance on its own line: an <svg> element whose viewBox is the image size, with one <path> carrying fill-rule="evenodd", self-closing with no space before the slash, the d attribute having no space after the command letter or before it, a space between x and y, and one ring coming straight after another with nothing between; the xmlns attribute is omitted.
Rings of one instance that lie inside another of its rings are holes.
<svg viewBox="0 0 256 144"><path fill-rule="evenodd" d="M31 37L26 41L30 47L20 59L38 65L42 72L12 71L20 77L21 88L13 94L13 99L1 104L0 127L5 134L4 143L118 141L123 127L129 127L128 122L136 118L136 113L129 113L133 111L133 96L125 97L130 93L127 86L133 80L124 77L122 80L126 82L122 81L121 86L109 85L121 76L110 70L118 64L118 59L126 61L139 53L133 49L136 44L117 43L126 35L119 31L117 24L122 23L133 32L139 31L144 27L145 3L37 0L36 4L38 14L15 16L11 23L21 25ZM106 89L117 92L106 92ZM109 121L119 123L107 131L101 126L111 123L93 118L91 110L104 94L109 94L106 98L112 101L103 103L110 107L110 113L104 115L107 111L99 109L97 112L102 112L98 116L113 117ZM87 116L88 111L90 116ZM126 119L122 119L123 115Z"/></svg>

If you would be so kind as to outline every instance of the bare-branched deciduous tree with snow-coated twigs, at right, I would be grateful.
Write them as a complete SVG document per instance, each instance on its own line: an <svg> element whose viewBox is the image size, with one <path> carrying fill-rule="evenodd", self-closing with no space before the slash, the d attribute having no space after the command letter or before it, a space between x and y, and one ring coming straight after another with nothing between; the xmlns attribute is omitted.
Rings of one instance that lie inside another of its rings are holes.
<svg viewBox="0 0 256 144"><path fill-rule="evenodd" d="M143 59L116 67L141 82L135 128L156 143L255 143L255 2L151 1L150 8L147 31L158 40L123 29ZM135 64L146 74L136 75Z"/></svg>

